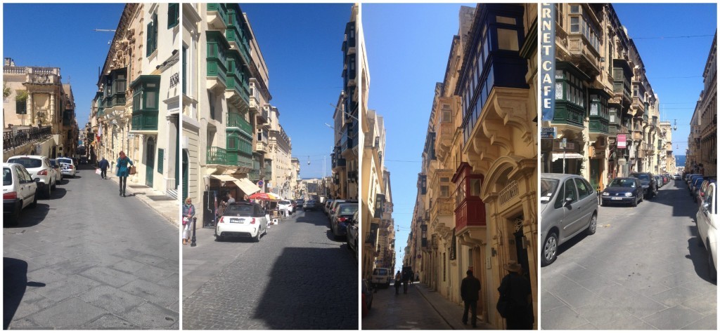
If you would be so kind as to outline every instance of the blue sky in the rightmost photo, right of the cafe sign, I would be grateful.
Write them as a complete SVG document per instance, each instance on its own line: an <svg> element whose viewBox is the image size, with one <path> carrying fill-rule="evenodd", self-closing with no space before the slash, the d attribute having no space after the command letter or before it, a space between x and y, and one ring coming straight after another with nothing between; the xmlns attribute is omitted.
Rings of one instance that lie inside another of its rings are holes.
<svg viewBox="0 0 720 333"><path fill-rule="evenodd" d="M675 154L685 155L690 118L703 90L703 70L717 29L716 4L613 7L634 40L650 85L660 98L660 120L678 122L678 131L672 133ZM703 37L668 38L679 36Z"/></svg>

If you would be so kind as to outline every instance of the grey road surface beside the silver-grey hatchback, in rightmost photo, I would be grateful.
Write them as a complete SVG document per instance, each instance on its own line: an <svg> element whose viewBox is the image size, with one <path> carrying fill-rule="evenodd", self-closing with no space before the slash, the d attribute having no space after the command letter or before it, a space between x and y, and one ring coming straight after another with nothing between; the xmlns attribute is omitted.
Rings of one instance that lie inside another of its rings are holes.
<svg viewBox="0 0 720 333"><path fill-rule="evenodd" d="M600 207L595 235L541 268L542 329L716 329L716 282L680 180L638 207Z"/></svg>

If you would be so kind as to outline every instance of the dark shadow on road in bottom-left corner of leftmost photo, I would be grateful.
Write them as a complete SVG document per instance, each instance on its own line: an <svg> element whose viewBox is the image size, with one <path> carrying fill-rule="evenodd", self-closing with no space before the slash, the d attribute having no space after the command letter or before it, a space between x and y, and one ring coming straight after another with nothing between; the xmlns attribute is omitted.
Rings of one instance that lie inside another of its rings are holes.
<svg viewBox="0 0 720 333"><path fill-rule="evenodd" d="M27 282L27 262L15 258L2 258L3 264L3 311L2 328L12 322L27 286L44 287L45 283Z"/></svg>

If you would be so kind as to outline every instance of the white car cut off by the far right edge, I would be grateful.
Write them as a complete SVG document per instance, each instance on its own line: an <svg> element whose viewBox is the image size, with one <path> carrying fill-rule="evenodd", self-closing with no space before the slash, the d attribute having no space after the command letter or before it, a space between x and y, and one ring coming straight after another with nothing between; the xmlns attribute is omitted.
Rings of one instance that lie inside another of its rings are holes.
<svg viewBox="0 0 720 333"><path fill-rule="evenodd" d="M717 230L718 230L718 204L717 204L717 184L710 183L705 194L695 221L698 224L698 245L704 246L708 250L708 267L710 278L717 280Z"/></svg>

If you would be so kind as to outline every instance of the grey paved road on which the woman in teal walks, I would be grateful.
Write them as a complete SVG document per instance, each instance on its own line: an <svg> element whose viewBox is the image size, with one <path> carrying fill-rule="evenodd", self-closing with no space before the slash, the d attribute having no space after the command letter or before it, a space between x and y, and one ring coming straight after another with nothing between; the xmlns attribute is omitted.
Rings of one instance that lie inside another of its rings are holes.
<svg viewBox="0 0 720 333"><path fill-rule="evenodd" d="M177 226L79 169L3 230L4 327L178 329Z"/></svg>

